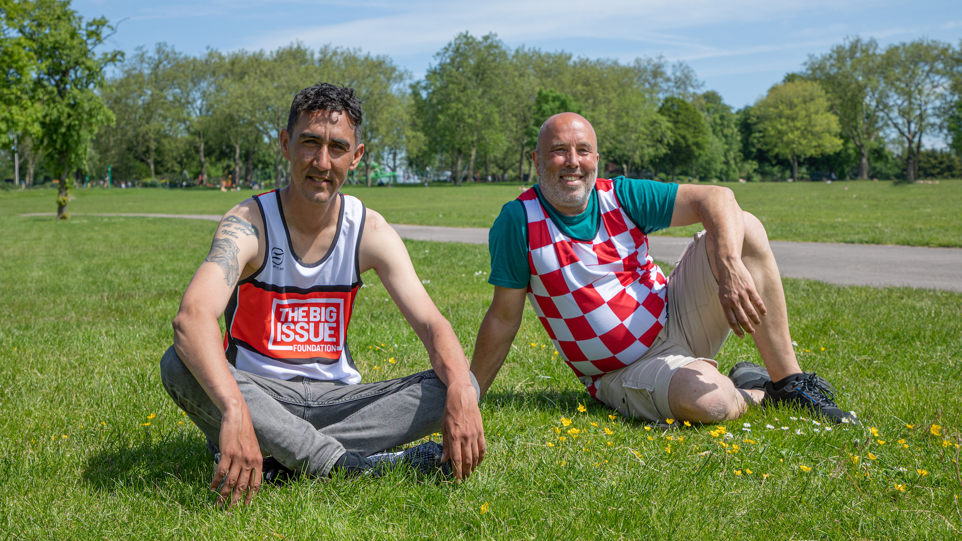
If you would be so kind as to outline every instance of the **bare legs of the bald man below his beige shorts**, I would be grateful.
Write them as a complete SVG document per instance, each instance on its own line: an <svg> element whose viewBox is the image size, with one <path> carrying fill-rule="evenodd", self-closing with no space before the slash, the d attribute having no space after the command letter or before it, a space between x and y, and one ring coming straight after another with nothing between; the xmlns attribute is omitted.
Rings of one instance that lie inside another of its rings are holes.
<svg viewBox="0 0 962 541"><path fill-rule="evenodd" d="M761 221L747 212L744 216L742 261L768 310L761 318L762 322L754 325L755 332L751 338L772 380L777 381L798 374L801 369L792 348L785 292L768 234ZM717 280L715 246L711 238L705 240L708 261ZM736 389L727 376L703 360L696 360L678 369L669 385L669 407L675 418L681 421L711 423L737 419L746 411L748 402L758 403L763 398L762 391Z"/></svg>

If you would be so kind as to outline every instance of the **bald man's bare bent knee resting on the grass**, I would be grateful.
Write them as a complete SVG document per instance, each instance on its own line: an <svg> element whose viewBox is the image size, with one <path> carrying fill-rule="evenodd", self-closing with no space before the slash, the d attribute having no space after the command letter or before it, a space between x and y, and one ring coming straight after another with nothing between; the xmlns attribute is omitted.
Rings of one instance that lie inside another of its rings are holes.
<svg viewBox="0 0 962 541"><path fill-rule="evenodd" d="M741 414L738 390L731 380L706 361L694 361L674 373L669 385L669 407L679 421L716 423Z"/></svg>

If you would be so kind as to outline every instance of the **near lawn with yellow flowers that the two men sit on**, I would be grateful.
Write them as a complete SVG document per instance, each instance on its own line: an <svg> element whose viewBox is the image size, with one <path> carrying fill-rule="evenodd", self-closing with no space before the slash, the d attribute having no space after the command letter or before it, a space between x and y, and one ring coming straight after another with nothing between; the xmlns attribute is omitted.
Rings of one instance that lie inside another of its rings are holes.
<svg viewBox="0 0 962 541"><path fill-rule="evenodd" d="M146 200L114 193L105 196L114 204ZM168 206L158 207L204 212L187 201L206 201L207 212L221 212L230 203L229 194L190 195L162 193ZM51 200L8 197L0 214L4 539L958 539L962 530L957 451L929 431L941 425L958 441L962 428L962 295L805 280L785 281L802 366L833 381L864 428L816 433L790 419L804 413L752 409L722 424L736 435L728 444L740 446L728 453L710 434L714 426L663 434L612 421L553 358L527 308L482 403L488 459L467 483L402 473L304 479L266 488L249 508L217 511L203 437L166 396L158 370L169 322L215 223L23 219L13 213L48 209ZM89 212L107 211L105 201ZM489 270L485 246L407 245L469 355L491 300L486 276L475 276ZM364 278L349 340L366 380L426 368L377 276ZM759 361L749 342L734 338L718 360L722 370ZM571 427L582 430L578 438L566 433Z"/></svg>

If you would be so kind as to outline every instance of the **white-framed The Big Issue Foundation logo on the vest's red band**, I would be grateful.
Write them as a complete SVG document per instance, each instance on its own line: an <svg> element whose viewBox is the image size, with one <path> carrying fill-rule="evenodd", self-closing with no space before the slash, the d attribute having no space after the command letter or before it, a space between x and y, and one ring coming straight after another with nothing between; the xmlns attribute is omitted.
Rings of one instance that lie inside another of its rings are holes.
<svg viewBox="0 0 962 541"><path fill-rule="evenodd" d="M267 349L341 351L344 348L343 315L343 298L275 298L270 310Z"/></svg>

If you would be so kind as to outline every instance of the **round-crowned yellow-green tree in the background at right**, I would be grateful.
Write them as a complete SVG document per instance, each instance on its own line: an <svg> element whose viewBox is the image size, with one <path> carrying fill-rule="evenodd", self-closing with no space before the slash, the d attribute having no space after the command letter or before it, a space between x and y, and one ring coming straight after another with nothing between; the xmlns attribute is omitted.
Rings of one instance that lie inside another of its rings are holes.
<svg viewBox="0 0 962 541"><path fill-rule="evenodd" d="M754 107L761 144L772 154L792 162L798 178L798 159L830 154L842 148L839 120L829 112L828 99L818 83L796 81L775 85Z"/></svg>

